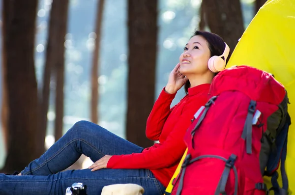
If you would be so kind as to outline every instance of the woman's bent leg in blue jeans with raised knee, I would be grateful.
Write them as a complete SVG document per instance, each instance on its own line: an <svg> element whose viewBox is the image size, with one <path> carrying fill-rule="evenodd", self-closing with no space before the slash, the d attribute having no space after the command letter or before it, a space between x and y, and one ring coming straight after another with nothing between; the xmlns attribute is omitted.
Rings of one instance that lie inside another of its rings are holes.
<svg viewBox="0 0 295 195"><path fill-rule="evenodd" d="M88 121L79 121L39 159L32 161L22 175L50 175L74 164L84 154L93 162L104 155L140 153L143 148Z"/></svg>

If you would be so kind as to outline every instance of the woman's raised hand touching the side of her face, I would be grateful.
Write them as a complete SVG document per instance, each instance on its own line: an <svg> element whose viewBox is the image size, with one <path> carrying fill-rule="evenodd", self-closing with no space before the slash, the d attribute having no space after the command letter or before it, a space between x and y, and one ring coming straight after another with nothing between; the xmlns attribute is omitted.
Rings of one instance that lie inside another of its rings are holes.
<svg viewBox="0 0 295 195"><path fill-rule="evenodd" d="M169 75L168 83L165 87L167 93L176 93L187 81L187 78L179 72L179 69L180 63L177 63Z"/></svg>

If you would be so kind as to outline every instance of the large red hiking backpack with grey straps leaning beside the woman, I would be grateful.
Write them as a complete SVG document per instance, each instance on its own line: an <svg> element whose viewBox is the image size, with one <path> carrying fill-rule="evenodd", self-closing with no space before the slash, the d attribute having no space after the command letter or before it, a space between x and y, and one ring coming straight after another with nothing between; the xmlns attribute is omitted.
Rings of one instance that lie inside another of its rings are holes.
<svg viewBox="0 0 295 195"><path fill-rule="evenodd" d="M184 137L188 152L172 195L265 195L264 170L276 177L280 159L285 190L276 182L273 190L287 193L284 163L291 119L280 109L286 97L284 86L265 71L236 66L220 72ZM274 128L269 118L284 121ZM272 140L267 125L276 131Z"/></svg>

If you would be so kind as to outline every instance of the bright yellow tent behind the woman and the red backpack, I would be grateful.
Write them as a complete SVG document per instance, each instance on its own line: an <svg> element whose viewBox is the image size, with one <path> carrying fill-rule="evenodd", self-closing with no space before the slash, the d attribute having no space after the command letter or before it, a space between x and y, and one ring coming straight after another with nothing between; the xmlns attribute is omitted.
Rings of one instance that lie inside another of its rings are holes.
<svg viewBox="0 0 295 195"><path fill-rule="evenodd" d="M267 0L260 8L236 45L228 67L243 64L274 74L288 91L293 124L289 128L286 171L289 189L295 192L295 0Z"/></svg>

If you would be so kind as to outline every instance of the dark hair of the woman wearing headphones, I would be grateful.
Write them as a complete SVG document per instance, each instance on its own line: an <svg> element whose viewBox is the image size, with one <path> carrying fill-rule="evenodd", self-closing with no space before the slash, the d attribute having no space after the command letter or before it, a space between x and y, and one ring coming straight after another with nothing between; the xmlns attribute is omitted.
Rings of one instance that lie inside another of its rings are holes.
<svg viewBox="0 0 295 195"><path fill-rule="evenodd" d="M212 56L220 56L220 55L223 54L223 52L225 50L225 44L224 44L224 40L219 35L214 34L212 32L197 30L197 31L194 32L194 34L191 36L191 38L193 36L196 36L196 35L201 35L207 40L208 48L210 50L210 56L211 57ZM229 56L226 59L226 63L229 61L230 56L231 56L231 52L230 52ZM214 73L214 77L217 74L218 73ZM184 84L184 90L185 90L186 94L188 93L188 88L189 87L190 87L190 83L189 83L189 81L187 81Z"/></svg>

